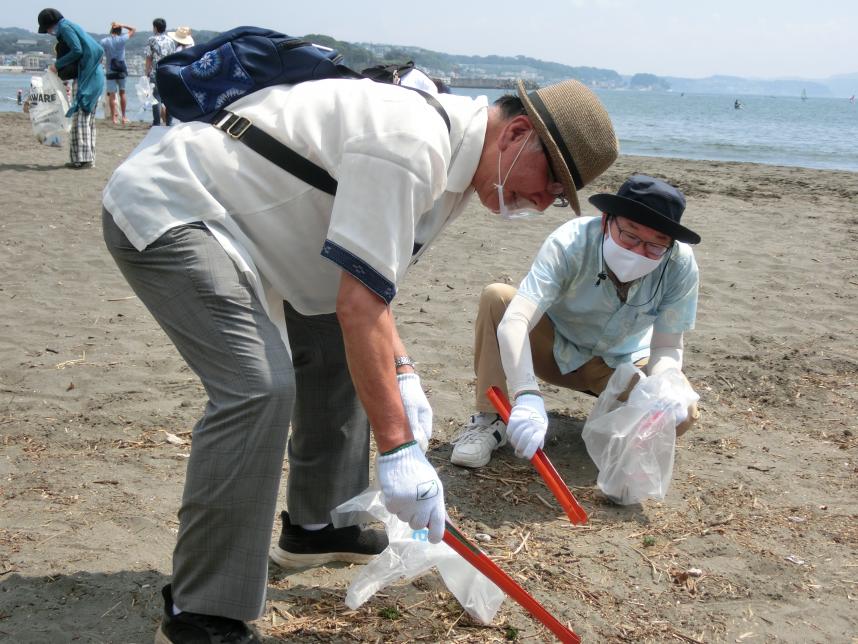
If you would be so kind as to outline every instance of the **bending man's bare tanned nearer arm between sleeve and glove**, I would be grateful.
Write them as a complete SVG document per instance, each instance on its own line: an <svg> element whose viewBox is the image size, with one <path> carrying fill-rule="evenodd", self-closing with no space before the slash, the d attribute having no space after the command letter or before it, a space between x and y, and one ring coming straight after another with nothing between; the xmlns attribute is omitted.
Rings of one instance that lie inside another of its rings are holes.
<svg viewBox="0 0 858 644"><path fill-rule="evenodd" d="M343 273L337 296L349 371L383 453L413 440L393 365L402 342L387 304L357 279Z"/></svg>

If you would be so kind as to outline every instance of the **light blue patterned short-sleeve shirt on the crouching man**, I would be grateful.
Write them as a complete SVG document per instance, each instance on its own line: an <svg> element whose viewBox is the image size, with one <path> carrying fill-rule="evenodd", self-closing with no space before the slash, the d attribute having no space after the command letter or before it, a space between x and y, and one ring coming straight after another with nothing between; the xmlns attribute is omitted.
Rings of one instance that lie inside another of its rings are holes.
<svg viewBox="0 0 858 644"><path fill-rule="evenodd" d="M676 242L656 270L633 282L624 304L610 279L596 286L601 242L601 217L563 224L545 240L518 288L536 304L537 315L554 323L554 358L561 373L595 356L612 368L635 362L649 355L653 328L659 333L694 328L698 270L688 244Z"/></svg>

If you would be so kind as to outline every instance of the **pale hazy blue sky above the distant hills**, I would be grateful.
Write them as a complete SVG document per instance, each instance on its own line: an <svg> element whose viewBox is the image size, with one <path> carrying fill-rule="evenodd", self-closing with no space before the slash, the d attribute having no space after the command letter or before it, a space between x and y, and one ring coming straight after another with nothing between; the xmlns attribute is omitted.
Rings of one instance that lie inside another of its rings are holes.
<svg viewBox="0 0 858 644"><path fill-rule="evenodd" d="M0 25L33 31L39 11L51 6L44 0L4 4ZM858 72L856 0L77 0L53 6L98 32L112 20L150 31L152 19L163 17L170 27L252 24L456 54L532 56L621 74L826 78Z"/></svg>

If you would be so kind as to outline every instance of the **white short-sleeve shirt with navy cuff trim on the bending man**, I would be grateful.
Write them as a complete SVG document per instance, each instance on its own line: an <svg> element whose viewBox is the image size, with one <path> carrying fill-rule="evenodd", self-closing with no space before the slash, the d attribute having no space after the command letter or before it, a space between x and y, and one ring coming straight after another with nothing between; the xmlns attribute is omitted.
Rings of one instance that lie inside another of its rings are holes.
<svg viewBox="0 0 858 644"><path fill-rule="evenodd" d="M153 128L117 168L104 207L138 250L204 221L304 314L332 313L346 270L390 302L458 216L485 139L484 97L442 95L451 131L417 92L369 80L269 87L230 106L325 169L336 197L206 123Z"/></svg>

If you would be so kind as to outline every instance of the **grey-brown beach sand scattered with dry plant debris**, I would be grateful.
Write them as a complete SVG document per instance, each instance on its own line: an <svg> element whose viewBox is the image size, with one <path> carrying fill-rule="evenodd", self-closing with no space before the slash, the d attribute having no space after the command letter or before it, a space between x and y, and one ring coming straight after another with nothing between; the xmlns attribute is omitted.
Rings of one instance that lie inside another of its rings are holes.
<svg viewBox="0 0 858 644"><path fill-rule="evenodd" d="M3 641L149 642L160 618L205 398L101 240L102 187L145 131L99 122L96 168L74 171L24 115L0 115ZM858 175L624 156L584 196L632 172L679 186L703 237L685 353L702 417L667 498L605 499L580 438L593 399L551 387L546 452L587 525L509 448L479 471L449 464L480 290L517 284L570 212L507 223L475 202L394 301L448 511L585 641L858 641ZM552 640L509 599L475 624L434 574L349 611L358 570L272 565L266 641Z"/></svg>

